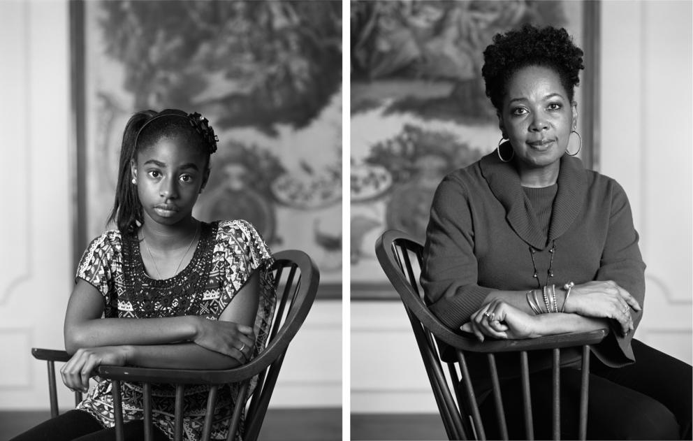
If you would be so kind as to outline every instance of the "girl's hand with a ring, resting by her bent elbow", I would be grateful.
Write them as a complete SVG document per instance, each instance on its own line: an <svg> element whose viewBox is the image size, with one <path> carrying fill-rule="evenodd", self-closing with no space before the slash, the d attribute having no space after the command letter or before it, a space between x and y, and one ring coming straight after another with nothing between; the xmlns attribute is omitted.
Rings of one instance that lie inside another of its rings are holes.
<svg viewBox="0 0 693 441"><path fill-rule="evenodd" d="M247 363L253 353L255 334L251 326L198 317L193 341L205 349L230 356L243 364Z"/></svg>

